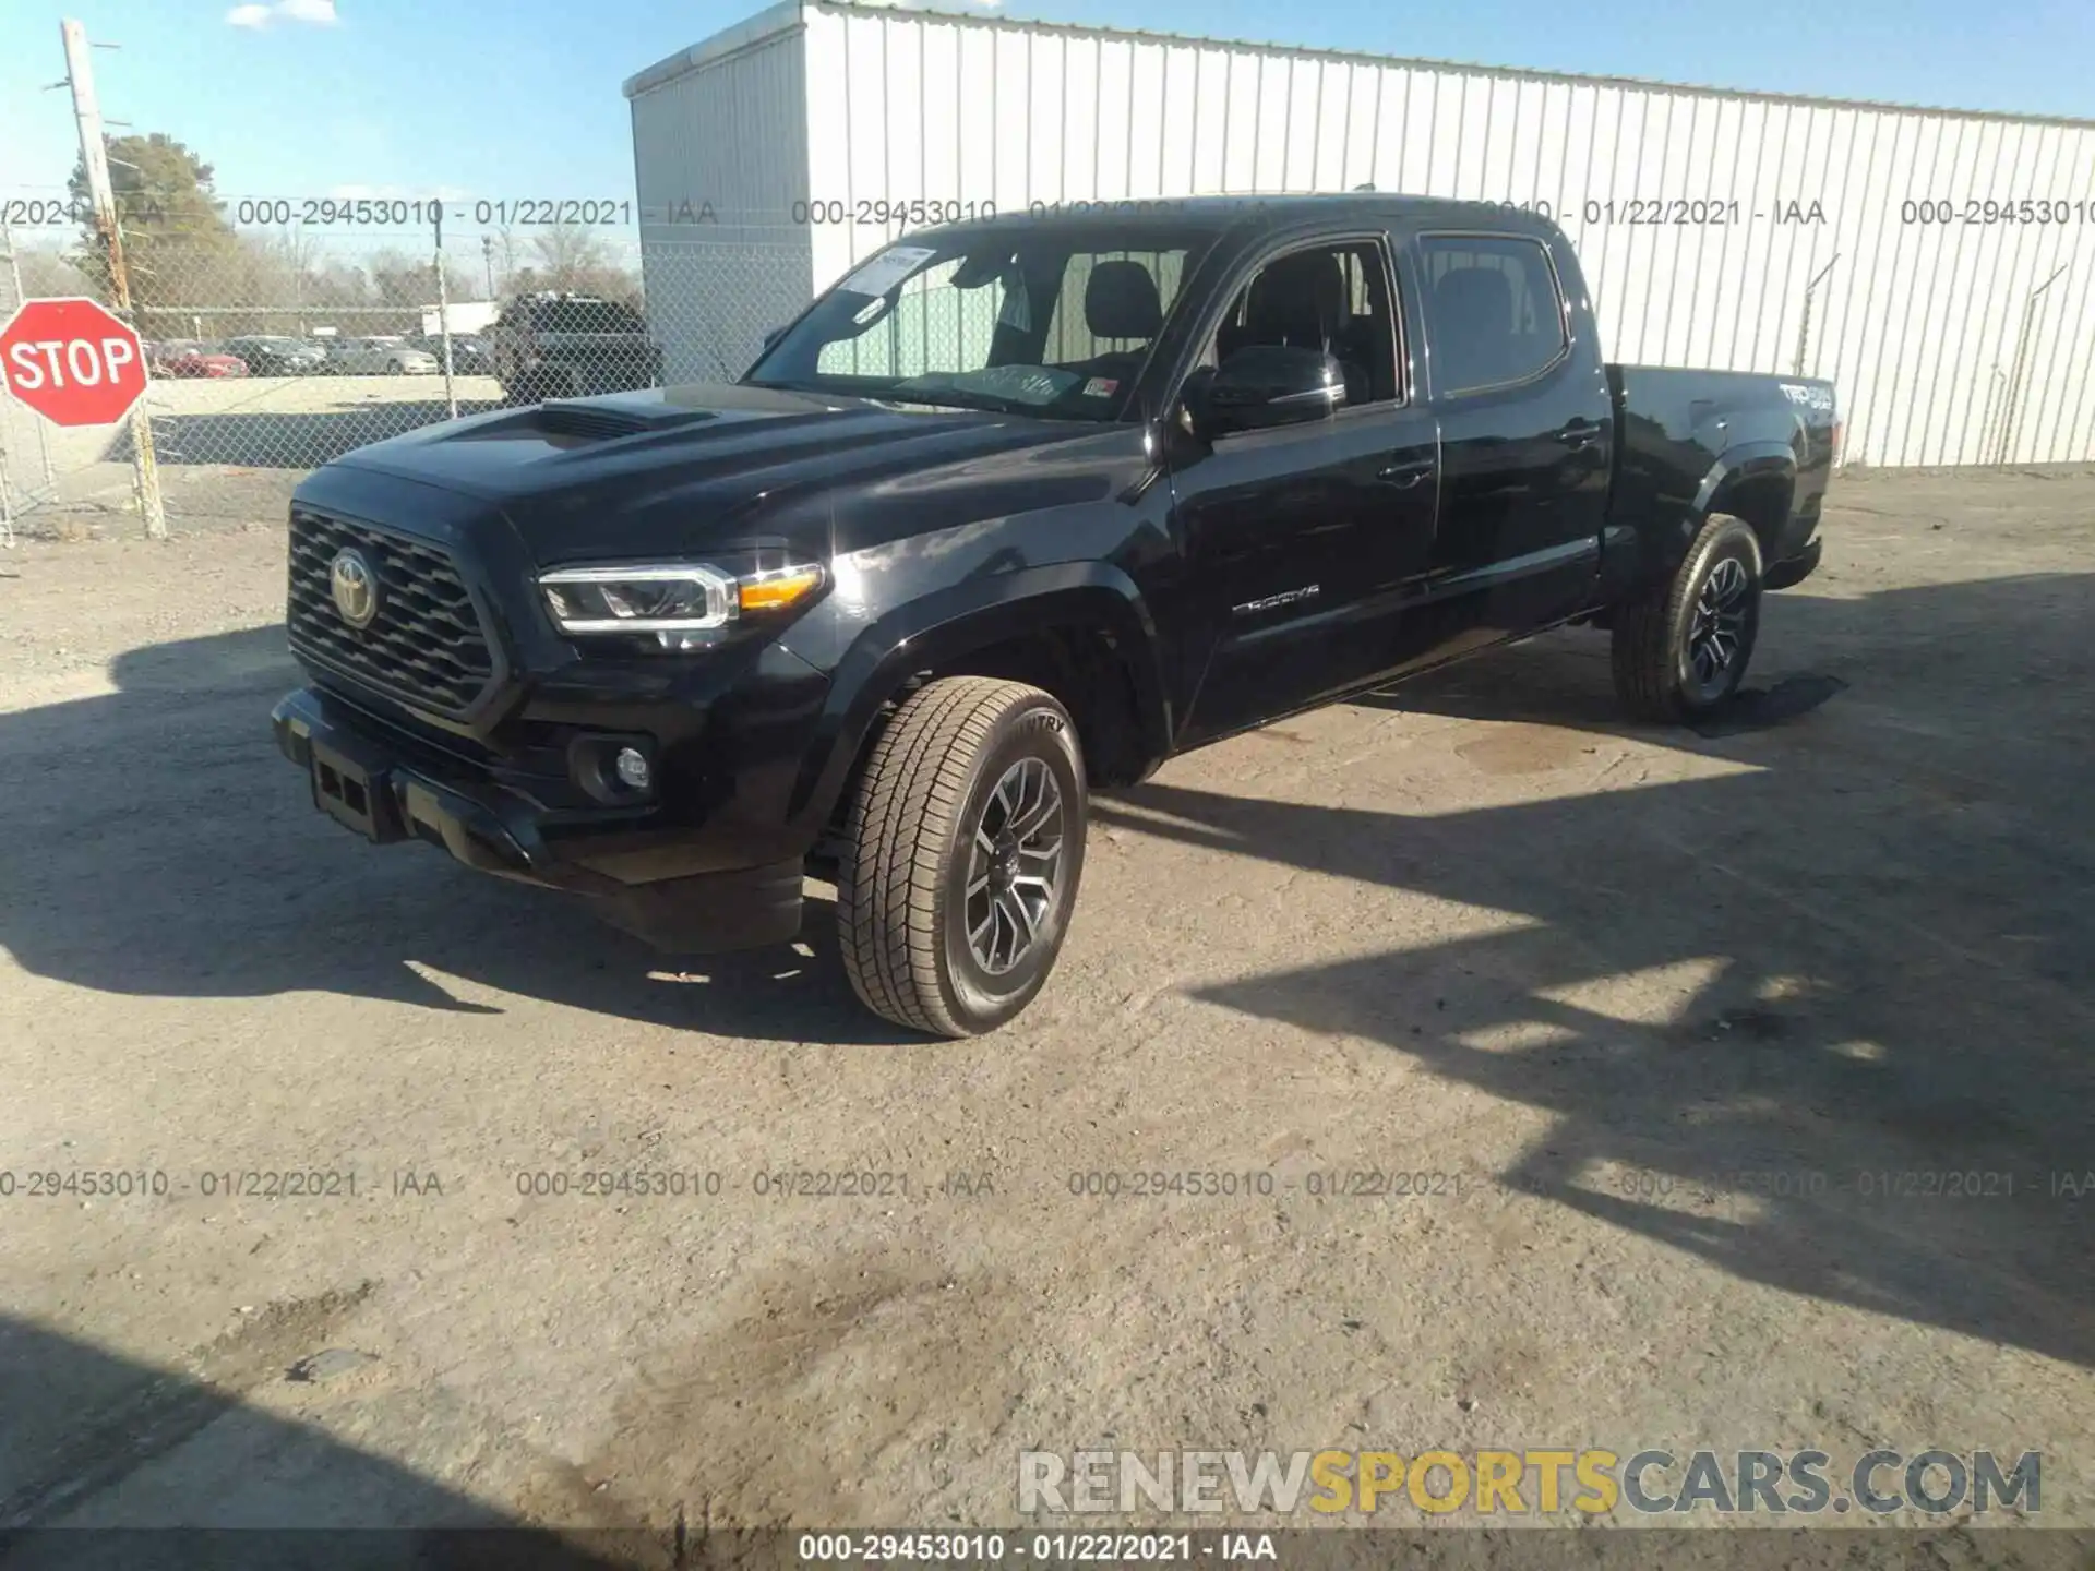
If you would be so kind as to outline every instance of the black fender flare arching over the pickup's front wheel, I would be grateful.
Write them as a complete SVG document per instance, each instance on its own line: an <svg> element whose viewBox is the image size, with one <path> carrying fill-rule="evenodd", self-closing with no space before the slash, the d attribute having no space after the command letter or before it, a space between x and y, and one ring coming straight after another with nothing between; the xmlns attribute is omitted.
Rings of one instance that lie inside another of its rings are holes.
<svg viewBox="0 0 2095 1571"><path fill-rule="evenodd" d="M1171 752L1171 689L1156 622L1133 578L1110 561L1060 561L968 578L869 622L844 649L794 779L788 819L828 823L880 710L918 672L972 649L1068 624L1102 626L1133 683L1150 758Z"/></svg>

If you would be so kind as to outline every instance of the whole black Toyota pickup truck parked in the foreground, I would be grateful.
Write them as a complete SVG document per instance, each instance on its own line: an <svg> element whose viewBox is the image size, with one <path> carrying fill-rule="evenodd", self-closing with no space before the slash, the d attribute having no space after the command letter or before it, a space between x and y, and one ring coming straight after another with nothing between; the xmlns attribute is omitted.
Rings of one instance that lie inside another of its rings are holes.
<svg viewBox="0 0 2095 1571"><path fill-rule="evenodd" d="M786 941L832 880L859 997L968 1035L1045 982L1091 788L1565 622L1634 716L1722 704L1837 432L1823 381L1603 360L1525 214L957 224L737 383L310 475L277 742L371 840L664 949Z"/></svg>

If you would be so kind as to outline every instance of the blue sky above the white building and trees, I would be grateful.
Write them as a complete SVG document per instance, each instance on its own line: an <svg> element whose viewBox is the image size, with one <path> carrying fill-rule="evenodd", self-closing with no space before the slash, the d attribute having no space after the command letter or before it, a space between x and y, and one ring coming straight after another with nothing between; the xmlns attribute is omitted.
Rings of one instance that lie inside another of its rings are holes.
<svg viewBox="0 0 2095 1571"><path fill-rule="evenodd" d="M941 0L966 8L983 0ZM0 195L59 195L75 142L59 19L103 111L222 195L633 193L618 84L760 0L4 0ZM2034 0L1012 0L1006 15L1672 82L2095 117L2095 4Z"/></svg>

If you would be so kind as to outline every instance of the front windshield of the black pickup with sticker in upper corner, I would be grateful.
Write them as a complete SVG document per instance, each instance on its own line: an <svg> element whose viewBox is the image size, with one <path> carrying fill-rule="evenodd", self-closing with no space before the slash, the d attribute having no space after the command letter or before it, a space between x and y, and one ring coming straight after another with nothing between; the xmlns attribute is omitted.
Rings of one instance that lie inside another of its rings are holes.
<svg viewBox="0 0 2095 1571"><path fill-rule="evenodd" d="M1056 419L1119 419L1205 230L993 233L859 264L744 381Z"/></svg>

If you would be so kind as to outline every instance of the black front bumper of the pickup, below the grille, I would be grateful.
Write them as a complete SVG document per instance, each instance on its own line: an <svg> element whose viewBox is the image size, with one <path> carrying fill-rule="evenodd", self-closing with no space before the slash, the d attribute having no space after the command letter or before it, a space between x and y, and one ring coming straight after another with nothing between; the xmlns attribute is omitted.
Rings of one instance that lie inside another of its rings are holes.
<svg viewBox="0 0 2095 1571"><path fill-rule="evenodd" d="M589 853L597 838L629 846L631 811L605 811L595 823L549 813L310 687L277 704L270 725L279 752L306 773L312 804L373 844L425 840L484 873L578 894L601 920L664 951L756 949L800 930L798 861L626 882L591 867Z"/></svg>

